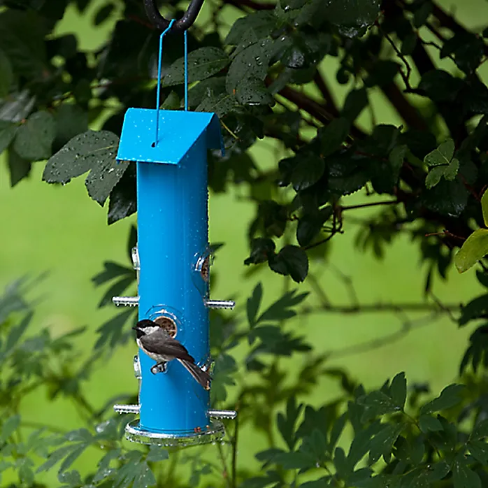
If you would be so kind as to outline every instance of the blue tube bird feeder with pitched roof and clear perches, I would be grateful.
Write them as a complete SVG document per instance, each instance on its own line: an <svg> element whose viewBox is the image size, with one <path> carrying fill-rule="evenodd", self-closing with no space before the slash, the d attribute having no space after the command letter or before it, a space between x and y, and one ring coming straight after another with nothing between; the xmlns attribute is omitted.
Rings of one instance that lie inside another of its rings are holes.
<svg viewBox="0 0 488 488"><path fill-rule="evenodd" d="M129 108L117 160L136 162L138 243L133 251L138 296L114 297L138 306L177 338L204 370L210 369L209 308L233 308L209 296L207 150L222 148L217 115ZM210 410L209 392L178 361L155 371L141 350L134 358L139 404L115 406L135 412L130 440L157 445L194 445L221 438L230 410ZM213 418L213 419L212 419Z"/></svg>

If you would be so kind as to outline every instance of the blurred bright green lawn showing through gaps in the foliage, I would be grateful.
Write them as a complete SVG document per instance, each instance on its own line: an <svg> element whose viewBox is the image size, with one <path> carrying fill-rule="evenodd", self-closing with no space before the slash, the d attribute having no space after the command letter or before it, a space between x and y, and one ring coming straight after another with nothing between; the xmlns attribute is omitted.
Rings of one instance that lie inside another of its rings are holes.
<svg viewBox="0 0 488 488"><path fill-rule="evenodd" d="M451 3L440 2L449 10ZM483 0L464 1L456 5L457 16L468 26L476 26L480 9L487 12ZM202 15L205 15L203 11ZM233 20L229 13L229 24ZM110 33L114 15L108 22L94 27L94 8L80 16L75 8L60 25L59 34L75 32L80 45L94 50ZM437 55L436 55L437 56ZM486 69L487 66L484 66ZM347 85L335 82L333 60L324 64L326 78L333 86L340 103ZM486 73L481 72L486 79ZM387 101L376 95L374 117L378 122L401 124ZM359 122L365 127L371 123L371 113L364 113ZM252 154L258 166L273 166L276 148L263 141L255 145ZM11 189L8 173L0 158L0 287L3 288L21 275L38 275L48 271L48 278L31 292L32 298L41 298L36 308L35 323L39 328L49 327L54 334L87 325L90 331L82 347L92 350L96 329L115 313L115 308L97 308L103 291L94 289L90 278L101 270L103 261L113 260L128 264L126 243L131 217L108 227L106 209L87 197L83 178L66 186L51 186L41 181L44 164L34 164L29 180L20 182ZM278 275L263 267L246 277L249 268L243 266L247 257L246 231L252 218L252 206L247 203L247 189L235 188L225 195L210 195L210 240L224 242L217 253L213 266L212 295L217 299L235 296L238 306L245 307L245 300L257 282L264 283L264 300L274 301L287 286ZM364 194L354 194L347 203L365 200ZM361 210L354 218L364 218L374 210ZM317 268L315 278L324 289L333 305L350 304L350 288L344 277L350 278L359 303L422 303L426 269L422 268L417 244L407 238L398 238L387 250L385 259L378 261L371 252L363 254L354 247L357 225L345 220L345 234L333 238L327 250L326 264ZM473 273L458 275L452 268L447 282L436 278L434 291L443 303L460 303L477 292ZM290 285L296 286L296 285ZM299 285L312 291L308 304L318 303L310 282ZM236 313L240 313L236 310ZM417 320L426 317L422 322ZM428 312L409 313L412 330L382 347L373 347L364 352L348 348L368 340L380 339L394 334L406 322L399 313L322 313L308 317L296 317L287 327L298 327L313 342L317 352L329 352L329 366L345 368L353 378L366 387L378 385L399 371L406 371L409 382L428 380L433 392L455 381L459 359L466 349L470 331L458 329L447 315L429 317ZM136 345L129 344L117 350L103 364L87 385L87 392L95 407L101 407L110 396L124 392L136 392L137 383L132 372L132 356ZM453 360L453 358L455 358ZM293 368L293 359L288 361ZM311 403L323 403L338 394L336 380L324 378L314 393ZM229 402L231 406L231 401ZM81 426L76 411L66 399L48 401L45 394L27 397L22 408L24 418L46 422L55 426L74 429ZM240 440L241 462L250 461L257 451L259 439L247 429ZM80 463L89 464L90 455ZM80 467L80 466L79 466Z"/></svg>

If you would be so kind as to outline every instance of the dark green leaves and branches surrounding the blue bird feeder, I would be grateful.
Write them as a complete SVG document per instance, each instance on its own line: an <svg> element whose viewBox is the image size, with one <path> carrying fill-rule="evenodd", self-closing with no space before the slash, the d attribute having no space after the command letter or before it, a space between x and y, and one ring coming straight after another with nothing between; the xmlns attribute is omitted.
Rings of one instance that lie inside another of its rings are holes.
<svg viewBox="0 0 488 488"><path fill-rule="evenodd" d="M101 206L108 201L111 224L136 211L134 167L115 157L125 110L153 106L159 33L142 2L120 1L108 41L84 52L75 35L56 34L71 3L85 11L94 1L0 1L0 152L12 186L44 160L43 179L52 184L87 173L87 192ZM178 16L178 2L168 3L169 15ZM115 3L97 5L96 25L117 10ZM188 33L189 107L217 113L224 128L226 154L209 155L210 189L241 185L254 203L245 265L268 264L303 282L311 258L324 261L326 243L349 231L347 215L368 206L379 210L362 222L359 250L381 259L404 232L428 264L426 295L433 277L445 278L453 264L461 272L478 266L488 287L488 88L478 70L488 55L488 29L469 31L431 0L218 0L208 8L208 23ZM228 8L240 15L230 29ZM163 108L181 108L182 39L167 36L164 45ZM335 62L335 80L325 76L324 59ZM343 103L332 94L334 83L347 86ZM369 127L361 119L370 110L374 120L377 92L404 126ZM89 129L102 120L101 130ZM280 149L266 168L248 152L262 138ZM344 197L359 190L368 201L348 206ZM129 250L134 239L133 229ZM99 306L135 280L126 265L104 266L93 278L97 286L110 283ZM328 368L326 354L287 325L307 313L306 293L288 288L264 308L258 285L245 318L213 313L213 405L224 408L231 390L239 416L229 440L208 447L219 461L207 462L199 448L171 455L133 449L122 441L127 417L110 412L115 399L97 411L85 396L83 382L97 359L131 338L134 311L103 324L93 355L81 358L75 344L83 329L54 338L31 326L25 285L15 283L0 299L0 472L15 473L22 485L40 486L41 473L56 466L63 487L184 486L178 464L191 466L192 486L488 484L488 292L459 311L460 326L477 328L459 385L436 396L425 385L408 385L403 373L366 392L345 371ZM285 367L289 357L296 378ZM340 396L307 404L324 376L340 382ZM41 387L51 399L73 401L85 426L59 431L24 419L23 396ZM238 433L246 424L268 445L255 455L259 473L238 464ZM98 452L99 463L80 474L73 466L85 450Z"/></svg>

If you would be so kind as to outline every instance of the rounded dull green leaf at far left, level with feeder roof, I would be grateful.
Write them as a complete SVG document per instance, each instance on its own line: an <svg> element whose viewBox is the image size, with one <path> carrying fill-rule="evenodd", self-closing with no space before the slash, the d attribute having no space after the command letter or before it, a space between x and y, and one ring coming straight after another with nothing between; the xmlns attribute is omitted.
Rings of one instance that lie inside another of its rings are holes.
<svg viewBox="0 0 488 488"><path fill-rule="evenodd" d="M36 112L17 129L13 148L20 157L28 161L47 159L51 155L55 135L54 117L48 112Z"/></svg>

